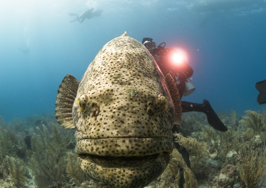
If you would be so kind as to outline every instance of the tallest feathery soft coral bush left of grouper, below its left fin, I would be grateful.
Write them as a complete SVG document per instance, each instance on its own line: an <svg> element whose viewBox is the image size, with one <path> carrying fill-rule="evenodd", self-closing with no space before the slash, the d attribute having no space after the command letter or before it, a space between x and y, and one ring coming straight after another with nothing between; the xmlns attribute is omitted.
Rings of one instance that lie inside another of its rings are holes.
<svg viewBox="0 0 266 188"><path fill-rule="evenodd" d="M31 139L33 155L29 167L33 175L42 175L60 186L64 180L66 142L54 124L50 132L44 124L42 131L39 127L36 129L38 134L33 134Z"/></svg>

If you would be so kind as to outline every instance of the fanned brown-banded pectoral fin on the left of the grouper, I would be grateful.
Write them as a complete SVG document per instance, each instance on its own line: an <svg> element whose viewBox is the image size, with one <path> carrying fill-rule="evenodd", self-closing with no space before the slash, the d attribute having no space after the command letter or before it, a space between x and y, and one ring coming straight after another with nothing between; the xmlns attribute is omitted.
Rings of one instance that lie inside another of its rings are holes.
<svg viewBox="0 0 266 188"><path fill-rule="evenodd" d="M72 106L77 95L79 87L79 81L68 74L64 77L58 88L58 94L55 102L55 117L58 123L66 128L74 128L74 122L72 118Z"/></svg>

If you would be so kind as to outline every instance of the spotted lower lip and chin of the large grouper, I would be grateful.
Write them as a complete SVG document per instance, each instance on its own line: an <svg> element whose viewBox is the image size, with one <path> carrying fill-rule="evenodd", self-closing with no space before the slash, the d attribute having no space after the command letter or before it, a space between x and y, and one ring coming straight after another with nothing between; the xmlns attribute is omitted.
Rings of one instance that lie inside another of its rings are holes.
<svg viewBox="0 0 266 188"><path fill-rule="evenodd" d="M79 165L104 187L144 187L160 176L170 161L168 152L142 157L79 155Z"/></svg>

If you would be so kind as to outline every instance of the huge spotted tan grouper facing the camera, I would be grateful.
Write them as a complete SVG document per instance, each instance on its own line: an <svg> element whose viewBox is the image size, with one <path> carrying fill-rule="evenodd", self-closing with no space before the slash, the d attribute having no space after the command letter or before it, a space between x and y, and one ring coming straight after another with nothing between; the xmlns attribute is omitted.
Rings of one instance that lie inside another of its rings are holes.
<svg viewBox="0 0 266 188"><path fill-rule="evenodd" d="M80 83L64 77L55 105L60 125L76 129L81 169L103 187L145 187L170 161L178 90L126 32L102 47Z"/></svg>

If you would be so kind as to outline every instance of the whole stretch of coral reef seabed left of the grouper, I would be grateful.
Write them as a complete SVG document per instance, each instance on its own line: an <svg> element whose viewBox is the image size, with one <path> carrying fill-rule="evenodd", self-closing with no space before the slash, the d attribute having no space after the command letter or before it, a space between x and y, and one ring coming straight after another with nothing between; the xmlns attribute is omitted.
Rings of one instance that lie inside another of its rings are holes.
<svg viewBox="0 0 266 188"><path fill-rule="evenodd" d="M18 125L23 131L17 130ZM33 116L24 122L15 119L9 124L0 116L0 184L5 187L81 185L85 176L74 154L73 135L74 130L61 128L54 116Z"/></svg>

